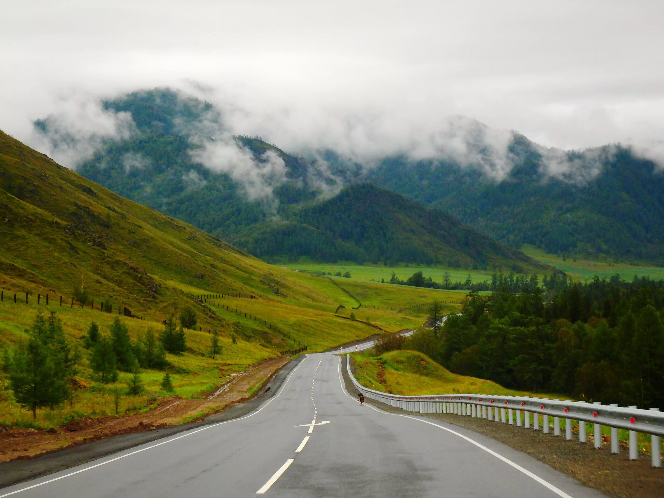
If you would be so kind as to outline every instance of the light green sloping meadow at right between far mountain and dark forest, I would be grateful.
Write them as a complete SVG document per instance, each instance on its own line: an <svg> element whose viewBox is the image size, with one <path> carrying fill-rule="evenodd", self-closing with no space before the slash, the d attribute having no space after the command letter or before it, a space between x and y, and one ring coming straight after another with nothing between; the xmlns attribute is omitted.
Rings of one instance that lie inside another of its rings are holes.
<svg viewBox="0 0 664 498"><path fill-rule="evenodd" d="M576 282L592 280L594 276L610 278L615 274L620 274L623 280L631 280L635 275L639 278L650 277L653 280L664 279L664 268L662 267L613 262L611 260L590 260L581 257L570 257L563 261L562 256L547 254L533 246L526 245L521 250L531 258L562 270Z"/></svg>

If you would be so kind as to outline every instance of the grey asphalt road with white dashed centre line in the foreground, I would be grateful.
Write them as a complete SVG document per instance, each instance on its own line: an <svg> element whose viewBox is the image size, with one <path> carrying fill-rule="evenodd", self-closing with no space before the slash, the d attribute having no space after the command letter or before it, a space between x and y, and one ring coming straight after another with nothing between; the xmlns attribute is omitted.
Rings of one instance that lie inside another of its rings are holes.
<svg viewBox="0 0 664 498"><path fill-rule="evenodd" d="M247 416L7 487L0 498L603 496L479 434L360 406L341 366L330 353L309 355Z"/></svg>

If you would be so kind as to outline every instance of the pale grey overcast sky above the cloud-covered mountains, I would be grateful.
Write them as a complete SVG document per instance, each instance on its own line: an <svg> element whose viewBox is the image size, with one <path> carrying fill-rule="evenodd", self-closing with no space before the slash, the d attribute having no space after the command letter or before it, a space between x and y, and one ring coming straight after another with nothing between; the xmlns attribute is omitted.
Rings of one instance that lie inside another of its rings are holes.
<svg viewBox="0 0 664 498"><path fill-rule="evenodd" d="M23 140L63 103L163 85L197 89L230 110L232 131L286 149L408 137L457 114L564 148L664 138L661 0L2 10L0 128Z"/></svg>

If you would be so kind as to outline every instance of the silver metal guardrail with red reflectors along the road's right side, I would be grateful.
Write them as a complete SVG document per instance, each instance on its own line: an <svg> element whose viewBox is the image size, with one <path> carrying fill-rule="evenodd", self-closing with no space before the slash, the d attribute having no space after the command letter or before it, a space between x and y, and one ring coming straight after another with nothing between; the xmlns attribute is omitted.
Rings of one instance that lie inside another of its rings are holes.
<svg viewBox="0 0 664 498"><path fill-rule="evenodd" d="M660 436L664 436L664 412L659 408L644 410L629 406L606 405L600 402L586 403L572 400L550 400L548 398L531 398L529 396L494 396L493 394L435 394L430 396L396 396L386 392L369 389L359 382L351 372L351 357L346 355L346 367L355 388L367 398L378 400L408 412L418 413L450 413L460 416L471 416L495 420L539 430L539 416L542 416L542 432L550 432L549 417L553 418L553 432L560 436L560 419L578 420L579 441L587 442L586 424L594 424L595 448L602 448L602 426L611 428L611 452L620 453L618 429L629 430L629 459L639 456L637 433L650 434L652 466L661 467ZM516 416L516 417L515 417ZM565 436L572 439L572 424L565 424Z"/></svg>

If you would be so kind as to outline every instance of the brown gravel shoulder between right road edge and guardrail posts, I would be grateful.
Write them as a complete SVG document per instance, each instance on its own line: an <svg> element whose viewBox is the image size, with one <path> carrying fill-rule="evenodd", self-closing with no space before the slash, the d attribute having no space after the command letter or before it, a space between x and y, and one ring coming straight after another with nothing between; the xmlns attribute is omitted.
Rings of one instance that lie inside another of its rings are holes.
<svg viewBox="0 0 664 498"><path fill-rule="evenodd" d="M345 368L343 379L346 389L356 391ZM386 412L412 414L366 398L369 404ZM479 432L507 446L537 458L554 469L574 477L588 487L616 498L661 498L664 495L664 469L650 466L650 456L641 454L637 461L629 460L627 448L619 455L610 454L608 445L596 450L591 442L581 444L561 436L526 430L522 427L493 422L483 418L462 417L453 414L426 413L418 416L440 420L448 424ZM576 435L575 435L576 436Z"/></svg>

